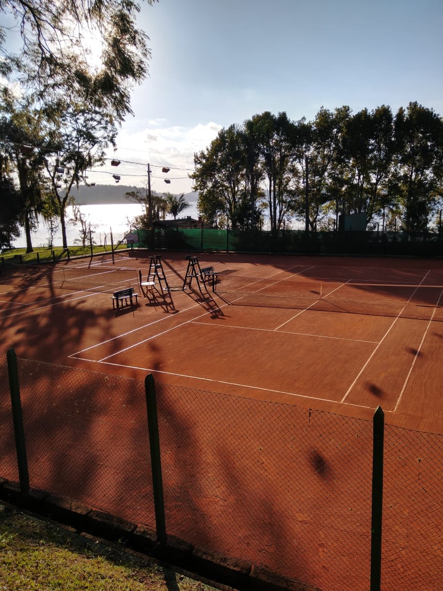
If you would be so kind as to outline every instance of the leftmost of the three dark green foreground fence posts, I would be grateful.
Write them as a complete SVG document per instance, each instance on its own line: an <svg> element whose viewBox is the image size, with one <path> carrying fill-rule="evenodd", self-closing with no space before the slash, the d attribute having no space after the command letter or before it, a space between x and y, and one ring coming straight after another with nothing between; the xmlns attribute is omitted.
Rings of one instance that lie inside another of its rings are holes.
<svg viewBox="0 0 443 591"><path fill-rule="evenodd" d="M18 383L17 356L14 349L6 352L8 361L9 391L11 392L12 421L14 423L15 450L17 452L18 480L20 492L27 495L29 492L28 460L26 456L25 431L21 411L20 388Z"/></svg>

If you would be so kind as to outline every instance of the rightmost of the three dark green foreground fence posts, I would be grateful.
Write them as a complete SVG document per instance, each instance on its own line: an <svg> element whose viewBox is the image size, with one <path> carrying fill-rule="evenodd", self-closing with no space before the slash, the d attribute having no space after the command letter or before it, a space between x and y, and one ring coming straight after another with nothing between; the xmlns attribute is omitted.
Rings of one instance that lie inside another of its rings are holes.
<svg viewBox="0 0 443 591"><path fill-rule="evenodd" d="M372 517L370 591L380 591L382 583L383 441L385 414L377 407L373 417Z"/></svg>

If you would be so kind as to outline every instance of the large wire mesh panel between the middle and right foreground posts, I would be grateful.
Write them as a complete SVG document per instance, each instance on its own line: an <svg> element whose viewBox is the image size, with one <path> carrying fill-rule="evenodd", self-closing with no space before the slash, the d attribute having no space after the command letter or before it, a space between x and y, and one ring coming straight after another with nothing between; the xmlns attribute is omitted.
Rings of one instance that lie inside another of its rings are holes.
<svg viewBox="0 0 443 591"><path fill-rule="evenodd" d="M370 421L165 385L157 396L168 532L320 589L368 588Z"/></svg>

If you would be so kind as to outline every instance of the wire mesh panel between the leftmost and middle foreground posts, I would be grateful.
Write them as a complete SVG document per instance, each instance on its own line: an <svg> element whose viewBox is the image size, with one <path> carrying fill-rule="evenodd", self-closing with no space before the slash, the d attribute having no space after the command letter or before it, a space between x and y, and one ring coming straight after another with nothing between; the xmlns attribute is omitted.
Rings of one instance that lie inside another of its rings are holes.
<svg viewBox="0 0 443 591"><path fill-rule="evenodd" d="M18 371L30 486L154 528L143 382L24 359Z"/></svg>

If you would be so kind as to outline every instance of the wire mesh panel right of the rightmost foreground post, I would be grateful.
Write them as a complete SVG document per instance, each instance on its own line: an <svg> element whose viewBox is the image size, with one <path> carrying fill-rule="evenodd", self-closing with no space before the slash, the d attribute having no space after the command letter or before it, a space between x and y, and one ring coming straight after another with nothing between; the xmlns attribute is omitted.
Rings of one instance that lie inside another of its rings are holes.
<svg viewBox="0 0 443 591"><path fill-rule="evenodd" d="M384 589L443 589L443 437L385 427Z"/></svg>

